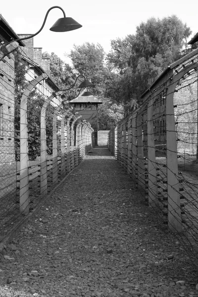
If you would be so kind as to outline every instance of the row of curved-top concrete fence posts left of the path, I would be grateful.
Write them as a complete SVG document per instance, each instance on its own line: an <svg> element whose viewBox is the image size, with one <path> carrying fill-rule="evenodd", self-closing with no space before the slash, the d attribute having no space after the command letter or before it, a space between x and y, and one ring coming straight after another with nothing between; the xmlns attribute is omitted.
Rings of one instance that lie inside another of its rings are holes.
<svg viewBox="0 0 198 297"><path fill-rule="evenodd" d="M29 198L29 160L28 160L28 130L27 130L27 100L33 88L46 79L47 75L42 74L33 80L23 93L20 102L20 171L18 175L20 183L19 203L20 213L28 214L30 211ZM40 163L40 191L41 196L48 193L48 157L46 141L46 109L52 99L61 95L62 92L53 93L45 100L41 110L41 163ZM72 169L79 165L83 157L92 148L92 134L94 132L90 123L81 118L78 112L73 113L72 108L64 109L60 104L54 107L52 115L52 184L58 183L58 151L57 151L57 115L61 113L60 131L60 176L64 178ZM66 125L65 125L66 121ZM66 126L66 127L65 127ZM75 129L74 129L75 128ZM66 130L66 131L65 131ZM65 137L66 134L66 137ZM75 146L74 146L75 142Z"/></svg>

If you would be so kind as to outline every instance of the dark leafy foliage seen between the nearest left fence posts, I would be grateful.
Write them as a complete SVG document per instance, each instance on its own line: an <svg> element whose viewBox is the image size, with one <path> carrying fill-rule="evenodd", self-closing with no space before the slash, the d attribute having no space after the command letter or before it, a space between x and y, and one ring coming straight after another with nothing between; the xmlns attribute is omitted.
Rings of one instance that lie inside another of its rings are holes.
<svg viewBox="0 0 198 297"><path fill-rule="evenodd" d="M15 157L19 160L20 155L20 100L28 85L25 75L28 71L20 54L15 54L15 110L14 110L14 140ZM33 90L27 100L27 128L28 128L28 155L30 160L35 160L40 155L41 140L41 108L44 98ZM46 135L47 152L52 150L52 106L46 111Z"/></svg>

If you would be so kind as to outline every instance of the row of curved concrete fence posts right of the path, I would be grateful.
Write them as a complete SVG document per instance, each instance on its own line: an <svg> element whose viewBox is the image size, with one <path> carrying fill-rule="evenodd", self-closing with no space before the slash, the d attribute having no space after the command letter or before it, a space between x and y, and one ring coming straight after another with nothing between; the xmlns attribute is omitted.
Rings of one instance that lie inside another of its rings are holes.
<svg viewBox="0 0 198 297"><path fill-rule="evenodd" d="M148 205L159 207L160 193L158 191L158 180L160 179L158 163L155 157L155 139L153 127L153 104L157 95L165 91L166 105L166 180L163 181L167 200L167 224L172 232L182 232L182 216L180 199L180 179L178 175L178 153L174 115L174 93L180 79L186 73L197 67L192 61L183 65L181 71L167 77L166 84L148 92L148 97L127 118L118 123L108 135L108 147L117 161L131 174L140 191L146 193ZM172 71L172 72L171 72ZM143 112L147 109L147 143L143 143ZM144 156L144 148L147 148L147 156Z"/></svg>

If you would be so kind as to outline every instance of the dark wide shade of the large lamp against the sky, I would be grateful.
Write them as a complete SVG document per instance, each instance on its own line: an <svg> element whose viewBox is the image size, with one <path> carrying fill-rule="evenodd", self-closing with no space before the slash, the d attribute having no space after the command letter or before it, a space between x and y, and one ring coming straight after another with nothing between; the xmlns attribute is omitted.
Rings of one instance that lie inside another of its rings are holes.
<svg viewBox="0 0 198 297"><path fill-rule="evenodd" d="M49 29L54 32L66 32L81 28L82 25L75 21L72 17L61 17Z"/></svg>

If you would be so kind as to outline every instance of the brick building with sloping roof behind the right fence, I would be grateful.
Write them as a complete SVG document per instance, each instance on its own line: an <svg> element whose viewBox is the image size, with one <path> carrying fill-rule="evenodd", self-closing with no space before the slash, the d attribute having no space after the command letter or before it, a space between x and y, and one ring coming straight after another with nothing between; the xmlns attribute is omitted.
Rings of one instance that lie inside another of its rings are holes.
<svg viewBox="0 0 198 297"><path fill-rule="evenodd" d="M141 96L144 104L142 113L143 140L147 150L147 102L152 95L152 115L155 148L166 147L166 97L170 77L181 69L198 61L197 49L168 66ZM198 72L196 69L182 77L173 96L178 152L195 154L197 147L198 122Z"/></svg>

